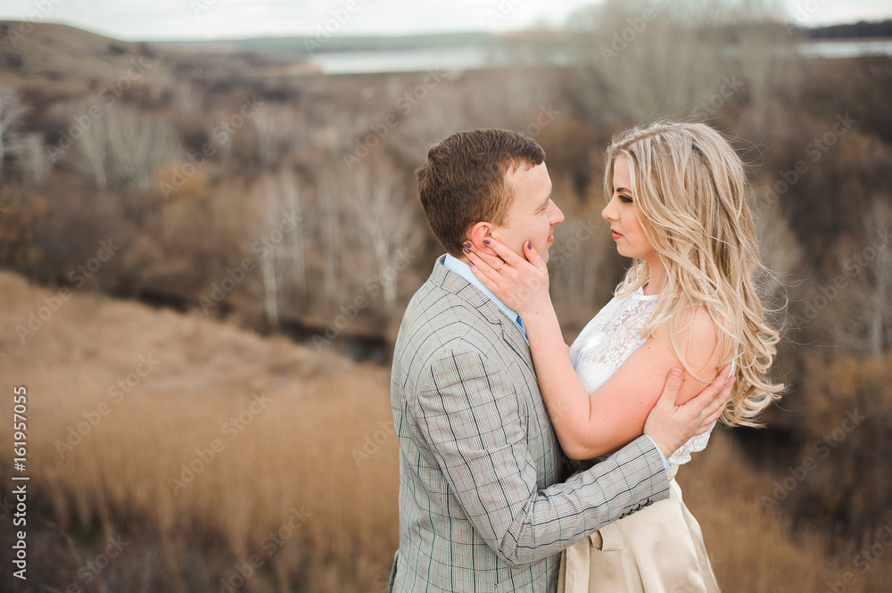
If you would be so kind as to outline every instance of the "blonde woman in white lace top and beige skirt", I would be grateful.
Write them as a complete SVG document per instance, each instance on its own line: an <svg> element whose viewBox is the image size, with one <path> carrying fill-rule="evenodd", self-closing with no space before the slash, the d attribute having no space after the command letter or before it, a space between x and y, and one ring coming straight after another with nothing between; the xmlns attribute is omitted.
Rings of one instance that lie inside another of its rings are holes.
<svg viewBox="0 0 892 593"><path fill-rule="evenodd" d="M569 349L548 292L548 269L493 238L466 252L481 282L520 315L542 397L566 455L602 457L642 434L663 378L684 368L676 403L729 362L737 382L722 419L756 426L782 385L764 375L778 334L765 323L750 188L731 145L704 124L634 128L607 149L602 216L632 268ZM498 256L498 257L496 257ZM631 394L652 393L650 398ZM718 591L697 521L674 480L709 432L669 459L670 498L612 523L565 552L561 591Z"/></svg>

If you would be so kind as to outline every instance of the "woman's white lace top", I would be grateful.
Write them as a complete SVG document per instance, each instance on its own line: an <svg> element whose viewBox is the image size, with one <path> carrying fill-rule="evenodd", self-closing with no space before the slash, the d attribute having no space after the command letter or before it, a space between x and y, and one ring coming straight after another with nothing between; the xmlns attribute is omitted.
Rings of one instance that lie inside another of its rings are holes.
<svg viewBox="0 0 892 593"><path fill-rule="evenodd" d="M582 329L570 347L570 362L585 391L596 391L646 342L640 338L640 331L657 303L657 296L645 294L639 288L627 297L614 297ZM714 425L675 451L667 460L670 469L688 463L691 453L706 449Z"/></svg>

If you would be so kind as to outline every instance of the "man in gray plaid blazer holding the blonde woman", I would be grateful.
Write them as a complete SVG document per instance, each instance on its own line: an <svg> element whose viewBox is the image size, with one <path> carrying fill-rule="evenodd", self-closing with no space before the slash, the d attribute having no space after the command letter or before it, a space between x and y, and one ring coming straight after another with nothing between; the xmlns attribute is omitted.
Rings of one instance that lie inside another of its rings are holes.
<svg viewBox="0 0 892 593"><path fill-rule="evenodd" d="M668 497L665 458L719 416L727 369L677 408L681 379L670 378L645 435L563 482L520 318L462 252L494 237L521 255L530 241L548 260L564 215L545 152L507 130L459 132L430 148L417 177L448 253L409 302L393 355L401 483L390 590L553 591L562 549Z"/></svg>

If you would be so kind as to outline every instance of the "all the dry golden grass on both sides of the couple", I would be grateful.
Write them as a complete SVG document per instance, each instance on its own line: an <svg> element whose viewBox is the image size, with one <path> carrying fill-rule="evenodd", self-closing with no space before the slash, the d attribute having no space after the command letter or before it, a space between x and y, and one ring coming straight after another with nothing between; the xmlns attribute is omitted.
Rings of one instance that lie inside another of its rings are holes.
<svg viewBox="0 0 892 593"><path fill-rule="evenodd" d="M218 591L226 590L224 579L257 592L384 590L399 521L385 369L200 314L92 294L64 301L22 347L15 326L54 292L0 272L0 293L4 389L24 384L29 391L28 584ZM140 356L157 367L115 402L110 386L136 372ZM260 392L269 402L249 414L252 393ZM108 414L62 458L56 441L103 400ZM0 422L10 414L4 405ZM250 422L230 441L225 423L239 414ZM215 439L223 449L174 492L169 481L182 477L181 465L200 467L195 449ZM364 446L370 454L358 464L354 449ZM9 467L9 432L0 447ZM856 577L846 591L888 590L888 558L862 573L855 548L838 546L828 556L827 534L792 536L784 507L766 513L760 496L771 496L775 479L752 468L721 433L682 468L685 499L725 593L823 592L845 572ZM269 532L294 510L299 528L283 531L281 548L271 546ZM106 538L119 534L128 542L121 555L90 581L78 577L101 558ZM8 537L0 537L4 548ZM262 565L242 585L234 565L252 555ZM24 590L20 581L2 580L4 590Z"/></svg>

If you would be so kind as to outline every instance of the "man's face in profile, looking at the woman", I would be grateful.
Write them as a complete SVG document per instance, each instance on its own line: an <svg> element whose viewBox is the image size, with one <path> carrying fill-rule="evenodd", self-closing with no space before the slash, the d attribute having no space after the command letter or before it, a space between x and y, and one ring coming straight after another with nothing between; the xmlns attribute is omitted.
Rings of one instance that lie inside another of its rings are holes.
<svg viewBox="0 0 892 593"><path fill-rule="evenodd" d="M554 227L564 221L564 213L551 202L551 177L542 162L527 169L521 165L505 175L505 187L512 195L508 213L502 226L492 226L491 235L520 257L524 257L524 242L548 262L549 247L554 243Z"/></svg>

